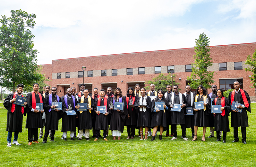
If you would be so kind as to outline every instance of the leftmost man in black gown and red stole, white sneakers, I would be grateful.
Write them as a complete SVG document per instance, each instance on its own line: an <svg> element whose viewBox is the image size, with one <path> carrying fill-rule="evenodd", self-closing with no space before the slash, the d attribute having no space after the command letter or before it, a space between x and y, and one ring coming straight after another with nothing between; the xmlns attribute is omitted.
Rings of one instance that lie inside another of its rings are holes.
<svg viewBox="0 0 256 167"><path fill-rule="evenodd" d="M19 133L22 132L22 122L23 122L23 114L24 114L24 106L14 104L17 96L22 96L24 85L18 84L16 88L16 92L9 94L4 100L4 108L7 112L7 123L6 123L6 131L7 134L7 146L12 146L12 135L14 132L13 144L20 145L18 140ZM27 102L24 102L24 105L27 105ZM26 112L26 111L25 111Z"/></svg>

